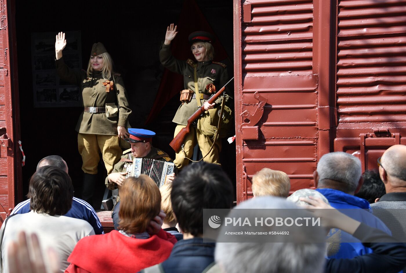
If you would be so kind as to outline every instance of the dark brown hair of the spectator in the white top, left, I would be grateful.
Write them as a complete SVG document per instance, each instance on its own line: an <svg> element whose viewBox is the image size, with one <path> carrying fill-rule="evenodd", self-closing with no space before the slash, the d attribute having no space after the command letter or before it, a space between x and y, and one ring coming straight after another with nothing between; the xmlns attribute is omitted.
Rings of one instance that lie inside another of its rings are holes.
<svg viewBox="0 0 406 273"><path fill-rule="evenodd" d="M54 166L39 168L30 178L30 209L49 215L64 215L72 207L73 185L64 170Z"/></svg>

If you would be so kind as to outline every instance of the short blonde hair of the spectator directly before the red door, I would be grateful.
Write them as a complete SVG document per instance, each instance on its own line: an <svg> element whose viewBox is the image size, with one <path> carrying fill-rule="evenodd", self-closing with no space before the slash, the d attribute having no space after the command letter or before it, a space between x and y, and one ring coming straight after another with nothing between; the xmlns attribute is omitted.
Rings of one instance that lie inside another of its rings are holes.
<svg viewBox="0 0 406 273"><path fill-rule="evenodd" d="M263 168L253 176L252 190L254 196L287 197L290 190L290 179L283 171Z"/></svg>

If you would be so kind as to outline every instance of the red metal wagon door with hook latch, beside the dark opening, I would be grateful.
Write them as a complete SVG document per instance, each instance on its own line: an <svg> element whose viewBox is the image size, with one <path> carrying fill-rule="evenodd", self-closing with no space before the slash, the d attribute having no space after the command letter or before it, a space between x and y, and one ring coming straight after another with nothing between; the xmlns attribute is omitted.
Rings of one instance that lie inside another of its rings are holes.
<svg viewBox="0 0 406 273"><path fill-rule="evenodd" d="M252 176L264 167L287 173L291 191L312 187L320 120L330 129L324 78L319 88L319 73L328 69L314 63L328 59L321 37L330 36L329 17L320 13L330 8L318 0L234 4L237 200L250 198Z"/></svg>

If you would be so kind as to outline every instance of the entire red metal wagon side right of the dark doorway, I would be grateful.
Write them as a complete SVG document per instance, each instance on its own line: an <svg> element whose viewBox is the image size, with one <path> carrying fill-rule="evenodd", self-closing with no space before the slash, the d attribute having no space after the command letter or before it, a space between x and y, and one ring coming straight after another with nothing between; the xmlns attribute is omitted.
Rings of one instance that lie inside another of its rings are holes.
<svg viewBox="0 0 406 273"><path fill-rule="evenodd" d="M234 1L237 200L268 167L313 186L330 151L364 169L406 144L406 0Z"/></svg>

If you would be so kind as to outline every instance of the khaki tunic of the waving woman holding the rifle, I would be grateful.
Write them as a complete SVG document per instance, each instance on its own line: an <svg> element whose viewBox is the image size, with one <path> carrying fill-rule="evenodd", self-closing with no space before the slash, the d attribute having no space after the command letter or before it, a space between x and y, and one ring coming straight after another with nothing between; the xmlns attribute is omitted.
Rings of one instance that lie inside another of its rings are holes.
<svg viewBox="0 0 406 273"><path fill-rule="evenodd" d="M187 61L177 60L173 57L171 52L171 46L162 43L159 58L162 65L172 72L183 75L184 77L184 89L189 89L194 92L194 66L197 65L197 85L199 87L199 93L206 94L208 96L212 95L206 90L206 85L213 83L216 86L216 91L220 90L227 81L228 74L225 64L206 61L206 62L193 62L188 59ZM181 90L179 90L181 91ZM227 92L227 87L225 92ZM225 102L227 103L230 99L229 95L224 94ZM216 101L216 106L221 104L222 96L220 96ZM206 100L201 100L201 105ZM173 122L180 125L186 125L188 123L188 118L193 115L198 109L196 99L192 99L189 103L184 103L179 106Z"/></svg>

